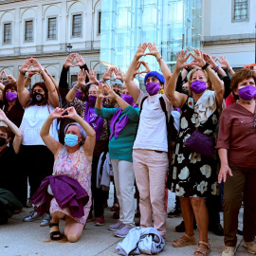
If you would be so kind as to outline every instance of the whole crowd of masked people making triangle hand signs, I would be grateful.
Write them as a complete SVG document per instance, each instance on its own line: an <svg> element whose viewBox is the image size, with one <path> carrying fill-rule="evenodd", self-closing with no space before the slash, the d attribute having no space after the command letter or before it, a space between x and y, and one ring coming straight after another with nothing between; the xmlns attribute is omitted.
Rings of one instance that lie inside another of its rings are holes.
<svg viewBox="0 0 256 256"><path fill-rule="evenodd" d="M160 71L140 60L148 55ZM71 66L80 70L68 91ZM136 79L143 73L145 90ZM34 75L42 82L29 88ZM82 56L72 53L60 82L34 58L21 65L17 80L5 70L0 79L0 224L31 204L25 222L44 215L40 225L60 240L63 219L64 235L76 242L87 221L104 225L114 176L119 220L109 229L117 237L129 239L136 225L141 233L153 227L164 245L167 216L182 213L175 230L184 235L174 247L198 244L193 255L208 255L211 230L224 235L222 255L232 256L244 202L243 244L256 253L255 70L234 72L225 56L194 49L176 53L172 73L155 43L144 43L125 77L112 67L98 81ZM168 190L176 196L169 213ZM128 244L125 239L119 247Z"/></svg>

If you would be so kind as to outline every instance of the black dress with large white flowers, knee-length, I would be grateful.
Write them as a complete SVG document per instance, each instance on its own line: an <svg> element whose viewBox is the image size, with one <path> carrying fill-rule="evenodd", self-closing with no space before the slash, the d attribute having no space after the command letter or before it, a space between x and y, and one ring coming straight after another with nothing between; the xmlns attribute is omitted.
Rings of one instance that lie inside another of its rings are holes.
<svg viewBox="0 0 256 256"><path fill-rule="evenodd" d="M177 196L205 197L217 193L216 157L206 157L187 149L184 142L196 129L214 138L219 113L216 109L206 121L199 121L189 97L180 111L180 130L172 156L168 187ZM214 138L215 139L215 138Z"/></svg>

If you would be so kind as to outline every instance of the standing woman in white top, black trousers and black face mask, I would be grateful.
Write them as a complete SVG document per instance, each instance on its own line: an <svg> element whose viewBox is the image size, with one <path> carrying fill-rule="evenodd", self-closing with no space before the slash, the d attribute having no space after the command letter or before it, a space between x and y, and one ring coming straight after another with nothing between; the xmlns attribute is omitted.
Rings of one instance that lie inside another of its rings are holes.
<svg viewBox="0 0 256 256"><path fill-rule="evenodd" d="M36 82L31 89L31 92L25 88L25 74L30 70L38 72L44 82ZM36 59L30 58L22 65L20 74L17 80L18 97L22 106L25 108L24 117L20 126L23 132L23 140L21 147L21 159L23 170L26 170L24 175L23 192L27 195L27 177L30 186L30 195L39 188L41 181L52 174L53 155L46 148L46 144L40 137L40 130L46 121L49 114L59 104L57 90L47 76L45 69ZM50 128L50 134L58 140L57 120L53 122ZM46 216L48 217L48 216ZM33 221L38 218L38 215L33 211L29 216L24 218L24 221ZM48 220L41 223L42 226L48 224Z"/></svg>

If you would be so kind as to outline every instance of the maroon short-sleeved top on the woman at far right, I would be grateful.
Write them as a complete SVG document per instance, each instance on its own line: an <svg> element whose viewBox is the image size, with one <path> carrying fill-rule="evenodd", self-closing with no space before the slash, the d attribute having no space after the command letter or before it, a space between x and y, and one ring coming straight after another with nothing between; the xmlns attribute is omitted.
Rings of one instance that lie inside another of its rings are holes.
<svg viewBox="0 0 256 256"><path fill-rule="evenodd" d="M216 149L228 150L229 163L256 168L256 128L254 114L239 103L224 109L219 126Z"/></svg>

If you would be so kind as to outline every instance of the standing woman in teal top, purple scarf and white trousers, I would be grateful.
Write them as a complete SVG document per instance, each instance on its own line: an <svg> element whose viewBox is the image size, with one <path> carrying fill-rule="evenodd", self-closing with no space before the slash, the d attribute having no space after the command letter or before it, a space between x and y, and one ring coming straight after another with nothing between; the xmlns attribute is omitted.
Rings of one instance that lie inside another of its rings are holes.
<svg viewBox="0 0 256 256"><path fill-rule="evenodd" d="M104 108L104 91L107 97L119 103L119 108ZM113 167L117 196L119 198L119 222L111 225L118 237L125 237L134 228L135 203L133 168L133 144L137 131L139 108L132 106L130 95L119 95L109 85L99 85L95 113L102 119L110 119L109 155Z"/></svg>

